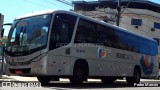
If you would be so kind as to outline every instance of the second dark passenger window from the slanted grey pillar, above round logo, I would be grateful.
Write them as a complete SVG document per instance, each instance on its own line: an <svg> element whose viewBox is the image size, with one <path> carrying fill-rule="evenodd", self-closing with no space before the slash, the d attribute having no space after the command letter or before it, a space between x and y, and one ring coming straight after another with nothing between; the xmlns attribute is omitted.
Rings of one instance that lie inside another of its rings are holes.
<svg viewBox="0 0 160 90"><path fill-rule="evenodd" d="M112 28L107 26L98 25L98 43L104 46L113 47L114 42L114 31Z"/></svg>

